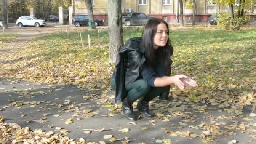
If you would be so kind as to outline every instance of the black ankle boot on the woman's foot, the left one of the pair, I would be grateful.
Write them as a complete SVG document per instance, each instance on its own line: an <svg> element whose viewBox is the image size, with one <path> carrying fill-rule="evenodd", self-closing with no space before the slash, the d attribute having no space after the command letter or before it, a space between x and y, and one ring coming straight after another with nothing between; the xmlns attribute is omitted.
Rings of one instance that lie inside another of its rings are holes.
<svg viewBox="0 0 256 144"><path fill-rule="evenodd" d="M133 104L128 104L128 102L126 100L123 101L122 104L122 110L123 110L123 114L125 115L126 118L128 118L131 121L135 121L136 120L136 115L133 112Z"/></svg>

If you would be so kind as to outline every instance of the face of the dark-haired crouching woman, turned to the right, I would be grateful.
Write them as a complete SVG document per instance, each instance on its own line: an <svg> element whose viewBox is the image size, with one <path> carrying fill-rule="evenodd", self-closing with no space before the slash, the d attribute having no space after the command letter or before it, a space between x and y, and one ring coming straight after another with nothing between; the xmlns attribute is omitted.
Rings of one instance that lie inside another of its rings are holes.
<svg viewBox="0 0 256 144"><path fill-rule="evenodd" d="M154 48L157 49L160 46L163 47L166 45L168 41L168 29L164 23L160 23L157 25L157 32L153 37Z"/></svg>

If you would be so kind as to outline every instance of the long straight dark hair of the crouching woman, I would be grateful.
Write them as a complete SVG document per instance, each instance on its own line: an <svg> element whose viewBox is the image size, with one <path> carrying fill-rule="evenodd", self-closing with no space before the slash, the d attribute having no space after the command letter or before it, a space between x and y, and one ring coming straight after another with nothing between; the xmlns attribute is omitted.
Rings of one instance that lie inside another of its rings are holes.
<svg viewBox="0 0 256 144"><path fill-rule="evenodd" d="M155 48L154 48L154 41L153 38L157 32L158 24L165 24L168 29L168 36L169 36L169 27L168 24L163 21L162 19L150 19L147 21L145 25L144 32L142 33L142 45L145 48L144 56L149 68L155 68ZM171 45L171 41L168 37L168 41L164 47L157 48L157 52L159 53L159 59L163 64L164 69L166 72L168 71L171 65L171 55L173 54L173 46Z"/></svg>

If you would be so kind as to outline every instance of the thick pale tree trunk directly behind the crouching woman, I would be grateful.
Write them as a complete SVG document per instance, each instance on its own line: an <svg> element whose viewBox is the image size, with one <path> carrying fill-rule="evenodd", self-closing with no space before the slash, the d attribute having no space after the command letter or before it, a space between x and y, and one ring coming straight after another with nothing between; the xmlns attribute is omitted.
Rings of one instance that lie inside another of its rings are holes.
<svg viewBox="0 0 256 144"><path fill-rule="evenodd" d="M121 1L108 0L109 59L115 63L117 53L123 45Z"/></svg>

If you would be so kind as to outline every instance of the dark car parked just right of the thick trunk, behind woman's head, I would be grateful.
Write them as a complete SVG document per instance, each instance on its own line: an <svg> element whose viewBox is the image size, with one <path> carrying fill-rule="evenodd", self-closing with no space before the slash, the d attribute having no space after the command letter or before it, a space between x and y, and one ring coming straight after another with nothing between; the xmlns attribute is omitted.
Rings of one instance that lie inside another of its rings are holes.
<svg viewBox="0 0 256 144"><path fill-rule="evenodd" d="M130 13L128 16L122 16L122 22L126 26L131 26L132 24L146 24L149 19L157 18L147 16L145 13Z"/></svg>

